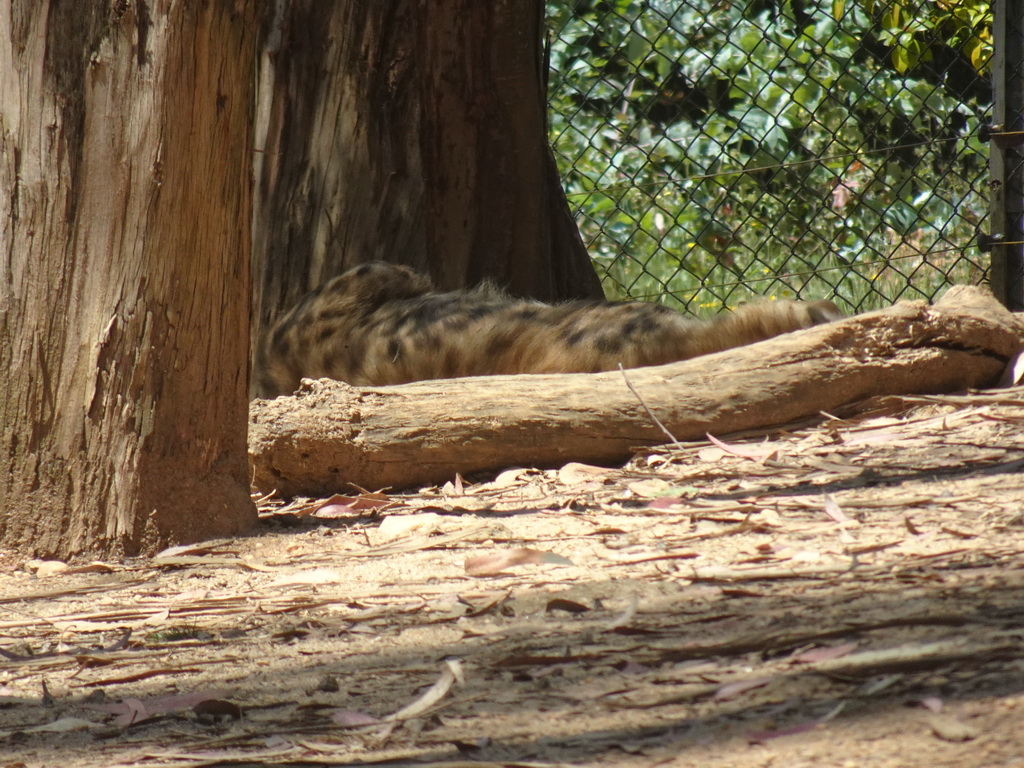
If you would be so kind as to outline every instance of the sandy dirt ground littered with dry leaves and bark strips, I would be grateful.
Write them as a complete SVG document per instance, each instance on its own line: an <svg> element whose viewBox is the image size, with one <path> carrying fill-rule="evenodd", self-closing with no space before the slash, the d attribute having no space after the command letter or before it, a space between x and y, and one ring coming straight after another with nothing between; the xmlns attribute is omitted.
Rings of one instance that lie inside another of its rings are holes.
<svg viewBox="0 0 1024 768"><path fill-rule="evenodd" d="M0 558L0 766L1024 766L1024 388Z"/></svg>

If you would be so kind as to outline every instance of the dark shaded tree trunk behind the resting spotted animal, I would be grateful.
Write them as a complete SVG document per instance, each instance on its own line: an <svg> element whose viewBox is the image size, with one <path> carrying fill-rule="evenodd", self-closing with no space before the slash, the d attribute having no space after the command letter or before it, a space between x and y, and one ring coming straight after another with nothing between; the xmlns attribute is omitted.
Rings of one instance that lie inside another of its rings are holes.
<svg viewBox="0 0 1024 768"><path fill-rule="evenodd" d="M542 0L278 3L261 63L257 328L371 259L599 297L546 134Z"/></svg>

